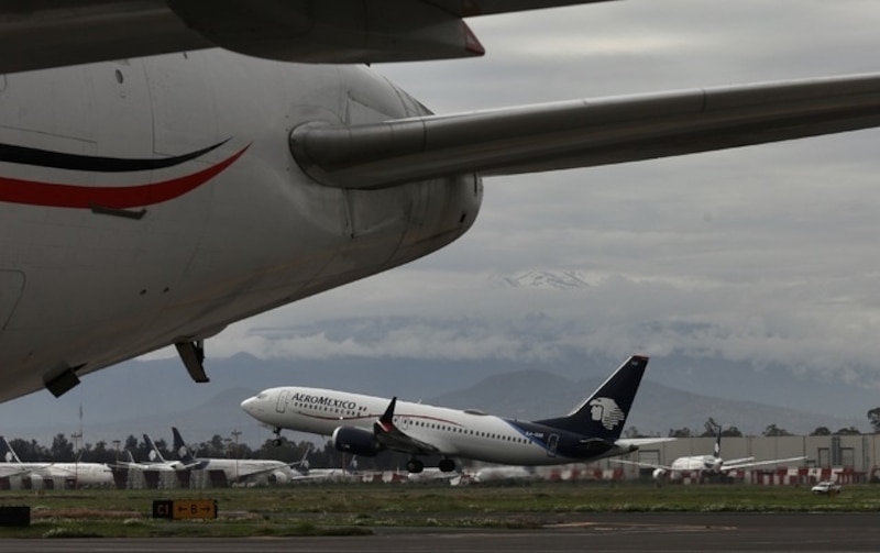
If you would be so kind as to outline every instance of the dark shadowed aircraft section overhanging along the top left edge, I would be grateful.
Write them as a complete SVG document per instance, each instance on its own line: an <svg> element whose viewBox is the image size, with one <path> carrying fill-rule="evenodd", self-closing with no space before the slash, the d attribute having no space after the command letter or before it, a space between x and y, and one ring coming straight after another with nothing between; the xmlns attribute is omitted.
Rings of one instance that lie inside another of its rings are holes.
<svg viewBox="0 0 880 553"><path fill-rule="evenodd" d="M0 2L0 74L215 46L310 63L479 56L464 18L598 1L606 0Z"/></svg>

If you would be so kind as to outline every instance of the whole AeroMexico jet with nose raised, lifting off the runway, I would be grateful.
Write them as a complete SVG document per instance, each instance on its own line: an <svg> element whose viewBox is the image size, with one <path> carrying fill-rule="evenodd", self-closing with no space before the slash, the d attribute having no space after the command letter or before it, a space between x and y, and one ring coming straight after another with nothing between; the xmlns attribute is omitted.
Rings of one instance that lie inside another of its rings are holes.
<svg viewBox="0 0 880 553"><path fill-rule="evenodd" d="M440 469L455 468L452 457L510 465L556 465L623 455L639 444L664 439L622 440L620 431L648 366L634 355L568 416L520 421L477 410L448 409L349 394L270 388L241 406L280 436L284 429L332 435L337 450L373 456L384 450L410 454L407 471L419 473L421 455L441 455Z"/></svg>

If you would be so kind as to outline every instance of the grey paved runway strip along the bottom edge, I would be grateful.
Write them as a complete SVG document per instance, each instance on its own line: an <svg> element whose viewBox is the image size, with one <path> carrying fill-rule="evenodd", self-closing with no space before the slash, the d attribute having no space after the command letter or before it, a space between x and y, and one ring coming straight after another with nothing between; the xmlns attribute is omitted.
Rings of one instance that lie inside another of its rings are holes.
<svg viewBox="0 0 880 553"><path fill-rule="evenodd" d="M877 551L880 513L585 513L560 515L535 530L376 528L351 538L0 540L0 551L351 553L443 551L832 552Z"/></svg>

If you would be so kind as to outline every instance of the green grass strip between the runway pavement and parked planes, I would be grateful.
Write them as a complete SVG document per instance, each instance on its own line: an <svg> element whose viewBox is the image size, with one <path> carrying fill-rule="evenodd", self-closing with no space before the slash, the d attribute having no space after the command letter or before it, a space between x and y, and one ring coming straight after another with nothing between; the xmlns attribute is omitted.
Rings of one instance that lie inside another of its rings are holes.
<svg viewBox="0 0 880 553"><path fill-rule="evenodd" d="M154 520L154 499L218 501L205 521ZM876 511L880 486L833 497L793 486L531 484L509 487L324 484L215 490L0 491L31 507L29 528L0 538L363 535L378 527L541 528L565 513L628 511Z"/></svg>

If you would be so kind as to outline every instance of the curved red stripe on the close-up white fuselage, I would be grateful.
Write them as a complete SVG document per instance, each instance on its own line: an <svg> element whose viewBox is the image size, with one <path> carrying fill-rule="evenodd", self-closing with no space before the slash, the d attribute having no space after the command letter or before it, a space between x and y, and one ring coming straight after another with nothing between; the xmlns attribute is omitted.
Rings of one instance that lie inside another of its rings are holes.
<svg viewBox="0 0 880 553"><path fill-rule="evenodd" d="M152 206L195 190L235 163L249 147L250 144L227 159L200 172L150 185L97 187L0 177L0 201L79 209Z"/></svg>

